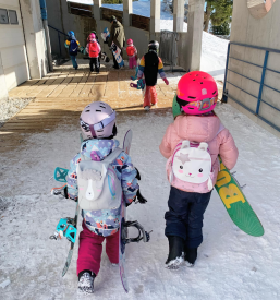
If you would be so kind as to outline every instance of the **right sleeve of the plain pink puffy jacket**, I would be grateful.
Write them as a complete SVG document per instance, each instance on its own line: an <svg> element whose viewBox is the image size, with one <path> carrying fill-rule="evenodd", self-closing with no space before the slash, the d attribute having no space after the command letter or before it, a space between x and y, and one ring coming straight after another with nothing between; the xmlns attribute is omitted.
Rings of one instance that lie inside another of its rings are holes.
<svg viewBox="0 0 280 300"><path fill-rule="evenodd" d="M221 139L219 153L222 163L229 170L231 170L238 161L239 149L235 146L234 140L228 129L223 129L219 133L219 137Z"/></svg>

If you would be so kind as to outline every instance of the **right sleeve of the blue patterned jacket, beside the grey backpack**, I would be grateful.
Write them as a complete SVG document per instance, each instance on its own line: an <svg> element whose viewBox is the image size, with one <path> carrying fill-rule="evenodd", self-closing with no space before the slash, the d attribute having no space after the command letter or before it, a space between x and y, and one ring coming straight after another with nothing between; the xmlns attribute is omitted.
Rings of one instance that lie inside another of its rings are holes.
<svg viewBox="0 0 280 300"><path fill-rule="evenodd" d="M135 200L136 193L139 189L138 180L136 179L137 171L133 167L131 157L122 152L119 157L113 161L118 178L121 180L124 200L127 204Z"/></svg>

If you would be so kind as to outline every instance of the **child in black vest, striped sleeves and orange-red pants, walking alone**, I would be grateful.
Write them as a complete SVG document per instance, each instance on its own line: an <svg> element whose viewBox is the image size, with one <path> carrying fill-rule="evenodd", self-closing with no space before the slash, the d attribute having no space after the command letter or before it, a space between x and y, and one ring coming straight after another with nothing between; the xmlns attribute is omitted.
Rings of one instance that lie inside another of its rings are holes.
<svg viewBox="0 0 280 300"><path fill-rule="evenodd" d="M142 58L138 68L137 79L141 80L144 75L146 82L146 92L143 105L145 110L149 110L150 105L156 105L158 103L156 91L158 73L165 83L169 85L166 73L163 71L162 60L160 57L158 57L158 49L159 44L157 40L149 41L148 52Z"/></svg>

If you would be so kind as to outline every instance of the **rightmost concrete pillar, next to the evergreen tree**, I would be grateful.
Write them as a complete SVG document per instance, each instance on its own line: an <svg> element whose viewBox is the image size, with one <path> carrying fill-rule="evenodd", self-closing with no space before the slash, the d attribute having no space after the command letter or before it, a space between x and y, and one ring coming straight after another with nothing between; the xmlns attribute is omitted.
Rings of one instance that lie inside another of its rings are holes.
<svg viewBox="0 0 280 300"><path fill-rule="evenodd" d="M188 1L187 43L190 45L190 71L200 69L205 0Z"/></svg>

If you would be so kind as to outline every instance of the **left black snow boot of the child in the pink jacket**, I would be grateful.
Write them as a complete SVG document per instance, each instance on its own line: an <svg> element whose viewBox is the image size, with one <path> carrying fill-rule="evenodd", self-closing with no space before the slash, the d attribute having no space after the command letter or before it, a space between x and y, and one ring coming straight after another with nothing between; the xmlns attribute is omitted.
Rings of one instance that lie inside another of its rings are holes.
<svg viewBox="0 0 280 300"><path fill-rule="evenodd" d="M169 255L166 261L166 267L169 269L178 269L183 263L184 240L176 236L169 236Z"/></svg>

